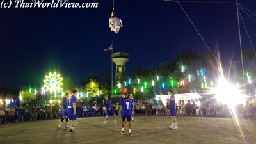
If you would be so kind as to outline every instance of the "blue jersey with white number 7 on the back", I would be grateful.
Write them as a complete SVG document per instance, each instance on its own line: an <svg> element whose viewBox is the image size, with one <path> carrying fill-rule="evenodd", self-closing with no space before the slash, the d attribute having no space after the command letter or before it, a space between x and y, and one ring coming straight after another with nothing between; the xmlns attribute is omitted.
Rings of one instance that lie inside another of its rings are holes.
<svg viewBox="0 0 256 144"><path fill-rule="evenodd" d="M132 116L132 99L129 99L129 97L124 97L120 99L120 106L122 106L122 116Z"/></svg>

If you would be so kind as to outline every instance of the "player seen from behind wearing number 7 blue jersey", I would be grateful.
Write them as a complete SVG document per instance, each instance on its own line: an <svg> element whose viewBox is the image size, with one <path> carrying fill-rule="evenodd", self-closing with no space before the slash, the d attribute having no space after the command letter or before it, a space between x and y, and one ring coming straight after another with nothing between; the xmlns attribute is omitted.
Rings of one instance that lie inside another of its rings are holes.
<svg viewBox="0 0 256 144"><path fill-rule="evenodd" d="M131 99L127 97L127 93L124 93L124 97L120 99L120 115L122 116L122 129L120 131L121 134L124 134L124 121L127 118L129 125L129 135L132 136L132 115L134 115L134 105Z"/></svg>

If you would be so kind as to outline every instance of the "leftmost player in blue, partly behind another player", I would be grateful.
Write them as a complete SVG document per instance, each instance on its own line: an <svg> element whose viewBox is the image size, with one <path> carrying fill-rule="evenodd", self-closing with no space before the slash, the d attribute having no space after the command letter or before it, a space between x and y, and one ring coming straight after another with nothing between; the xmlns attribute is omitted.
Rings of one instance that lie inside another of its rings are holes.
<svg viewBox="0 0 256 144"><path fill-rule="evenodd" d="M61 114L62 114L62 118L60 120L60 124L59 127L61 127L61 123L63 122L64 118L66 119L66 124L65 127L69 127L68 126L68 97L69 97L69 93L65 94L65 97L63 97L61 99Z"/></svg>

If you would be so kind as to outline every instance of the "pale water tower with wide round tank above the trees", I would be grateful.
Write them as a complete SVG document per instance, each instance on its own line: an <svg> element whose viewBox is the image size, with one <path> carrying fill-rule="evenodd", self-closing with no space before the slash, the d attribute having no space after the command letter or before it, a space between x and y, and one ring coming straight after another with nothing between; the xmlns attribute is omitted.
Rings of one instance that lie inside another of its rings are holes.
<svg viewBox="0 0 256 144"><path fill-rule="evenodd" d="M116 64L116 77L118 74L125 74L125 63L129 60L127 52L115 52L111 55L111 60ZM115 78L115 80L117 80Z"/></svg>

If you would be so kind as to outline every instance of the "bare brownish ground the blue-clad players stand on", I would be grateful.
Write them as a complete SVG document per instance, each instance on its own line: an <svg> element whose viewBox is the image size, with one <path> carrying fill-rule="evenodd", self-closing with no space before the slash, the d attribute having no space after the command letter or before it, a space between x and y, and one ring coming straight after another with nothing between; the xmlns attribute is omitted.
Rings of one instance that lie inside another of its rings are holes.
<svg viewBox="0 0 256 144"><path fill-rule="evenodd" d="M120 134L121 118L78 118L76 134L58 127L60 120L37 120L0 125L0 143L256 143L256 121L250 119L177 117L179 129L169 129L170 116L134 116L132 137Z"/></svg>

